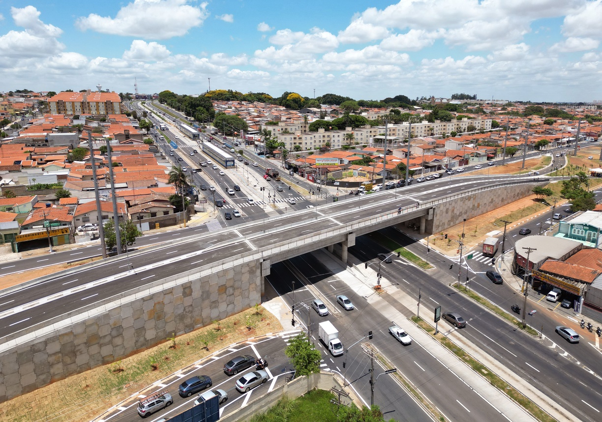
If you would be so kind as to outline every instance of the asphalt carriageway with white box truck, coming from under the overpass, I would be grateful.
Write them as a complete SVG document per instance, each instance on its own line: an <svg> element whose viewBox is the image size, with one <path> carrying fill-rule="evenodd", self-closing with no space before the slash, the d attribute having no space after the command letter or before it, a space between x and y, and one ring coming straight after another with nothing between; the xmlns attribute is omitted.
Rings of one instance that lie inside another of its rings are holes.
<svg viewBox="0 0 602 422"><path fill-rule="evenodd" d="M290 267L293 267L292 269ZM276 270L276 271L275 271ZM458 368L447 368L439 362L435 356L429 353L428 344L418 344L414 341L411 346L402 346L397 340L388 334L390 321L383 317L379 309L380 302L368 303L365 297L358 296L349 285L332 275L330 270L312 254L305 254L273 265L272 275L268 278L275 284L281 293L286 293L290 305L292 305L291 280L296 280L295 301L311 303L314 297L323 300L330 311L327 317L320 317L313 309L307 311L299 308L297 315L306 322L311 321L312 335L316 346L322 350L324 361L332 361L332 366L346 376L347 380L355 388L370 397L370 385L368 379L370 374L370 359L365 355L358 344L352 347L347 356L347 365L344 369L341 361L343 356L332 357L326 352L326 348L317 340L317 324L323 320L330 320L340 330L340 338L346 347L361 339L369 330L373 331L374 338L370 343L374 344L380 353L383 353L389 361L393 362L397 369L403 373L429 400L441 409L450 420L463 420L467 418L467 409L470 409L471 418L481 420L504 421L504 417L495 409L491 408L474 389L462 381L461 375L457 373ZM344 311L339 305L335 305L337 294L346 294L352 300L356 309ZM371 294L374 296L374 294ZM389 305L399 309L399 303L391 299ZM387 299L385 299L387 300ZM406 310L407 311L407 310ZM308 315L309 314L309 315ZM365 340L368 341L368 340ZM456 373L454 373L456 371ZM376 374L382 369L376 365ZM454 391L453 395L441 394L444 391ZM458 402L462 403L459 405ZM375 385L375 402L383 412L392 412L391 417L399 420L415 420L415 403L406 394L405 389L400 388L392 382L388 376L381 376Z"/></svg>

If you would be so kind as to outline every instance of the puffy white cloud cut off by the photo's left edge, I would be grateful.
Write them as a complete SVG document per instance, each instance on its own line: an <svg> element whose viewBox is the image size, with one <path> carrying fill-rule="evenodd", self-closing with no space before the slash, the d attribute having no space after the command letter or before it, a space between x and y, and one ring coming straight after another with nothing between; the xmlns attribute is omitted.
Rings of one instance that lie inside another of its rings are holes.
<svg viewBox="0 0 602 422"><path fill-rule="evenodd" d="M46 57L60 53L64 45L57 40L63 31L54 25L46 25L39 19L40 12L33 6L11 7L16 25L25 31L8 31L0 37L2 57Z"/></svg>

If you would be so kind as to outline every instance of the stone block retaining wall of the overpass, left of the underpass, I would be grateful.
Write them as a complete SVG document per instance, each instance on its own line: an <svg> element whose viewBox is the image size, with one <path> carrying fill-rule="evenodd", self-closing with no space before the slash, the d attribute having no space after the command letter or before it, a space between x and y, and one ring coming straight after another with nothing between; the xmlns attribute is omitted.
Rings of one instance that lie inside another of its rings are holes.
<svg viewBox="0 0 602 422"><path fill-rule="evenodd" d="M177 265L177 264L175 264ZM261 262L249 261L138 297L0 355L0 402L111 364L261 303Z"/></svg>

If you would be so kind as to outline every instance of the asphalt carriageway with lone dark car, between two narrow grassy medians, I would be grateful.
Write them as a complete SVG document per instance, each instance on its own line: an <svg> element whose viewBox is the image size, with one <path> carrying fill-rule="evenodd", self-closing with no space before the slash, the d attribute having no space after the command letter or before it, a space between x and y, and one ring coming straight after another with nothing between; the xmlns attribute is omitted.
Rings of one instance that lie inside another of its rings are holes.
<svg viewBox="0 0 602 422"><path fill-rule="evenodd" d="M376 245L369 237L360 237L356 240L356 246L350 248L349 252L355 254L355 249L362 247L364 241L364 249L373 249ZM383 266L382 272L386 280L399 281L398 270ZM456 274L453 272L445 271L437 272L436 277L430 273L404 272L403 279L408 282L405 285L406 290L416 299L418 287L421 288L423 304L427 309L442 306L442 312L459 312L468 321L467 328L460 330L455 330L445 321L440 321L440 330L453 330L455 335L467 337L468 341L488 351L504 367L520 374L523 379L548 397L552 397L580 420L596 419L597 411L602 409L602 396L598 393L601 391L602 379L581 368L576 359L567 359L563 356L571 346L586 347L586 345L570 345L560 341L560 337L552 338L553 343L551 343L524 334L496 315L485 311L464 295L457 293L455 289L447 287L447 283L455 281L455 277ZM503 285L495 285L494 288L503 288ZM424 309L422 311L425 312ZM582 400L588 405L584 405Z"/></svg>

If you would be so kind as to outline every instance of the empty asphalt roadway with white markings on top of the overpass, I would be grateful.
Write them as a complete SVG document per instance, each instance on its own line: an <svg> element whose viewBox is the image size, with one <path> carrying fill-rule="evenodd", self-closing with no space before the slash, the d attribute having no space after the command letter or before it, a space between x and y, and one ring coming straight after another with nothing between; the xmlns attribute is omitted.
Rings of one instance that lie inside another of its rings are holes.
<svg viewBox="0 0 602 422"><path fill-rule="evenodd" d="M476 183L473 184L473 186L474 185L476 185ZM458 188L461 187L462 186ZM432 185L432 188L436 188L436 186ZM414 195L414 197L416 196L417 194ZM418 197L419 196L420 195L418 195ZM200 235L200 237L193 237L191 240L185 240L178 237L178 242L176 243L177 247L174 246L173 243L163 244L160 250L157 250L157 253L159 255L161 255L161 253L165 254L169 262L177 262L176 265L178 269L188 268L189 265L196 265L196 267L198 267L199 265L202 265L202 262L209 262L209 260L220 261L229 256L250 252L251 250L261 247L273 246L276 243L287 243L290 239L305 234L311 234L318 230L335 228L342 223L355 222L358 218L386 213L387 208L391 209L393 212L398 206L411 205L412 201L415 200L414 198L411 200L403 199L405 195L397 195L391 191L385 191L368 197L370 198L367 200L357 199L335 203L325 208L322 207L314 212L306 211L305 213L287 214L278 217L278 219L270 218L268 222L264 219L261 224L259 224L259 221L256 221L254 223L241 225L240 227L237 226L236 230L230 229L217 234L216 232L209 233ZM375 199L379 200L375 202ZM391 202L393 202L393 206L389 208ZM360 205L361 208L356 208L358 205ZM350 212L352 210L353 212ZM326 213L327 216L325 216L324 213ZM311 228L308 225L311 225ZM274 230L277 230L277 234L272 233L264 235L263 233L264 231L269 232ZM224 244L225 242L229 242L229 244L226 246ZM212 247L209 247L209 250L203 250L203 248L215 244L222 244L223 246L217 250L213 250ZM127 291L131 288L140 288L150 282L172 276L175 273L173 267L170 265L158 265L154 259L148 259L148 257L154 253L154 250L144 250L126 257L122 256L120 259L117 259L116 264L108 265L108 268L104 268L102 273L104 278L119 275L117 278L117 280L119 280L119 290L115 289L116 283L113 282L78 291L70 294L66 298L62 298L61 303L63 306L60 308L52 306L52 302L46 302L43 298L51 294L58 294L66 288L73 289L80 285L93 282L100 278L99 275L101 273L94 270L83 271L81 273L76 273L78 277L75 279L72 278L67 281L61 281L60 278L62 275L59 274L57 275L57 281L46 283L45 288L30 289L28 294L16 291L10 295L2 296L0 312L5 312L8 311L8 309L13 309L15 307L17 307L17 309L10 315L6 315L2 318L1 324L3 324L3 327L0 328L0 335L4 337L4 335L11 332L11 330L22 329L26 324L60 315L58 312L63 311L64 309L77 309L89 303L94 303L98 300L110 297L120 291ZM138 255L140 255L140 257ZM134 275L123 269L123 267L127 269L127 265L132 265L135 270ZM151 265L151 267L141 269L141 265ZM61 285L62 282L70 282L70 285L64 287ZM49 291L48 289L50 287L52 287L54 291ZM34 294L33 297L31 293ZM68 300L64 300L67 298ZM18 307L19 305L23 305L23 303L30 302L43 303L36 306L37 312L31 315L31 317L23 317L23 309L19 309ZM49 309L43 311L40 307L49 307ZM0 314L0 317L1 315L2 314ZM14 328L12 324L14 324Z"/></svg>

